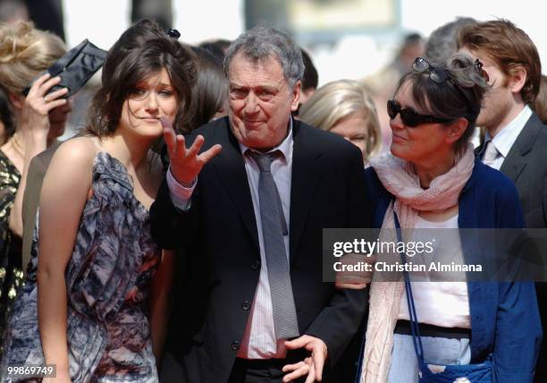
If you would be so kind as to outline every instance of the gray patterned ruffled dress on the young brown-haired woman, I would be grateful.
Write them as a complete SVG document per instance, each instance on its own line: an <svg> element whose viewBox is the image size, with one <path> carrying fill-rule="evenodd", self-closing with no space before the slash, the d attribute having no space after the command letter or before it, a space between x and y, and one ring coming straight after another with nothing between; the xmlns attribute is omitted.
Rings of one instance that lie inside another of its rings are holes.
<svg viewBox="0 0 547 383"><path fill-rule="evenodd" d="M99 152L92 188L65 272L72 382L156 382L147 298L161 251L122 163ZM7 329L3 382L19 381L5 375L7 366L44 364L38 333L37 233L27 280Z"/></svg>

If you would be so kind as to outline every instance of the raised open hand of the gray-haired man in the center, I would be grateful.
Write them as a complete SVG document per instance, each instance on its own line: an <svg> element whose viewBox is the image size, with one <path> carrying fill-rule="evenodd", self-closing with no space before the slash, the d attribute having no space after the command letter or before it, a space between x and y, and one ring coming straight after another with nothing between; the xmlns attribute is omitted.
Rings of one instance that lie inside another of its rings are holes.
<svg viewBox="0 0 547 383"><path fill-rule="evenodd" d="M160 117L160 121L164 127L164 140L169 153L171 174L178 183L188 186L198 177L201 168L223 148L215 144L203 153L199 153L204 138L198 135L192 146L186 149L184 136L174 132L173 123L165 117Z"/></svg>

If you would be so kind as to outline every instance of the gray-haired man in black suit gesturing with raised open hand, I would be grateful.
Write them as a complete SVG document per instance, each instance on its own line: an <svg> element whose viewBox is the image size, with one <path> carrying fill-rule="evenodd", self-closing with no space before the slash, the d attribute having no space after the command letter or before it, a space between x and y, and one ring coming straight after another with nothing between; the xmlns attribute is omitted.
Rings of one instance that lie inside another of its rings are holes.
<svg viewBox="0 0 547 383"><path fill-rule="evenodd" d="M187 137L189 149L164 129L171 166L152 233L185 256L162 380L321 380L367 307L366 290L322 280L322 229L368 226L362 158L291 117L304 68L284 33L249 30L224 66L229 116Z"/></svg>

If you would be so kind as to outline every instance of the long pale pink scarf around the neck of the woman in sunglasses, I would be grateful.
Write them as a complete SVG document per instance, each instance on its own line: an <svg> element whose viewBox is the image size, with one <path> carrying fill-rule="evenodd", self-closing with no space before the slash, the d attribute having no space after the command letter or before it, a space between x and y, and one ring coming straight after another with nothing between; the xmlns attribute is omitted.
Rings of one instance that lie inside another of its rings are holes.
<svg viewBox="0 0 547 383"><path fill-rule="evenodd" d="M391 154L373 159L371 166L378 174L383 187L396 198L383 217L380 241L397 241L393 234L393 210L399 217L403 240L407 240L412 235L418 211L443 210L456 205L461 190L473 172L474 164L473 147L469 145L456 165L447 173L434 178L429 189L424 190L408 162ZM396 254L378 254L377 260L395 260L394 257L397 257ZM404 292L402 281L383 282L382 280L389 278L382 278L380 274L374 273L370 287L370 310L361 383L380 383L388 378L393 331L399 317L400 298Z"/></svg>

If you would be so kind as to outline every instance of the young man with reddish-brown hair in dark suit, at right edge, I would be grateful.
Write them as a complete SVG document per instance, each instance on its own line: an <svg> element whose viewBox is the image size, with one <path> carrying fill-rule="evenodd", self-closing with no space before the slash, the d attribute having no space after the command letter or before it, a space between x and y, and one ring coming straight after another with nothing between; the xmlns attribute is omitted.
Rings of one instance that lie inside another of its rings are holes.
<svg viewBox="0 0 547 383"><path fill-rule="evenodd" d="M540 86L542 65L524 30L505 20L471 24L459 32L459 50L478 58L492 89L476 120L486 130L476 149L484 164L507 175L517 186L529 228L547 227L547 126L529 104ZM547 260L543 260L547 264ZM547 284L535 285L543 329L547 326ZM526 336L523 334L522 336ZM535 381L547 381L547 344L543 345Z"/></svg>

